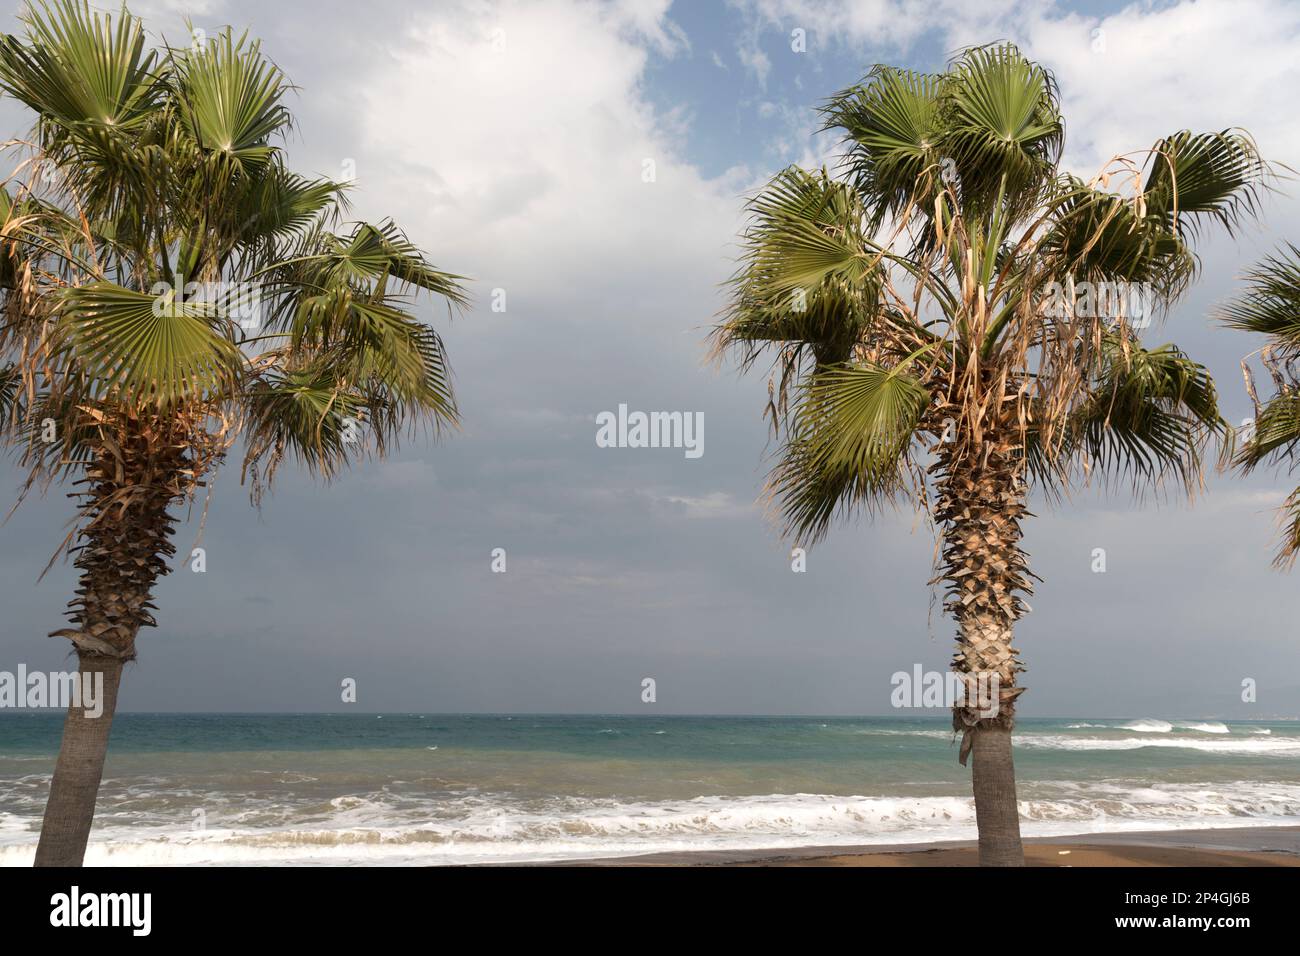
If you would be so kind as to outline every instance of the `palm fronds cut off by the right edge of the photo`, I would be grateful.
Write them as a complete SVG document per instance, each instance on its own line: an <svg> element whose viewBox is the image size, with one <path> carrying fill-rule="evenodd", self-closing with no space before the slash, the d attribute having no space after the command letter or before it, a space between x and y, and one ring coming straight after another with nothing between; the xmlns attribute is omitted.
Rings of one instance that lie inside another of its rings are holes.
<svg viewBox="0 0 1300 956"><path fill-rule="evenodd" d="M1260 402L1251 367L1243 362L1247 392L1254 403L1254 421L1234 459L1249 473L1257 466L1286 462L1294 470L1300 451L1300 248L1287 243L1286 251L1266 258L1247 276L1247 290L1223 310L1223 324L1234 329L1268 336L1269 345L1258 355L1274 392ZM1274 564L1291 567L1300 555L1300 488L1291 492L1279 512L1282 542Z"/></svg>

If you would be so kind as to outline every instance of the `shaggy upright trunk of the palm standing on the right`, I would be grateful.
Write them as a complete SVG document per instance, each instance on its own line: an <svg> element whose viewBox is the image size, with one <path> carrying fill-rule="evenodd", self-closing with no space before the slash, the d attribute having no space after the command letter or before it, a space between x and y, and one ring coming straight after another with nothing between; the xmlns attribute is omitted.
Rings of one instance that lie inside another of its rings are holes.
<svg viewBox="0 0 1300 956"><path fill-rule="evenodd" d="M966 700L953 708L953 728L962 734L962 765L974 754L982 866L1024 865L1011 761L1015 700L1024 692L1017 675L1024 667L1011 636L1028 610L1019 594L1032 587L1019 548L1026 510L1018 467L1015 442L998 441L994 433L984 434L979 451L940 445L935 464L935 516L944 537L940 578L948 583L944 607L957 622L953 670L967 687Z"/></svg>

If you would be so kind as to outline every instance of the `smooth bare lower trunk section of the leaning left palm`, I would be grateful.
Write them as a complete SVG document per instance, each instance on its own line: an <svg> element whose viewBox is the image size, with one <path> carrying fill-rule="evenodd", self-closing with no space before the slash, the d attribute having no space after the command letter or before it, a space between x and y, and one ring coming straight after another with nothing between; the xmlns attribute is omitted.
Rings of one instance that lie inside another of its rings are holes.
<svg viewBox="0 0 1300 956"><path fill-rule="evenodd" d="M36 866L81 866L86 842L95 819L95 797L104 775L108 734L117 710L117 688L122 680L121 658L79 653L78 671L83 682L103 680L103 710L92 717L82 700L73 700L64 721L64 743L49 782L49 800L40 823ZM91 687L98 684L91 683ZM96 708L98 709L98 708Z"/></svg>

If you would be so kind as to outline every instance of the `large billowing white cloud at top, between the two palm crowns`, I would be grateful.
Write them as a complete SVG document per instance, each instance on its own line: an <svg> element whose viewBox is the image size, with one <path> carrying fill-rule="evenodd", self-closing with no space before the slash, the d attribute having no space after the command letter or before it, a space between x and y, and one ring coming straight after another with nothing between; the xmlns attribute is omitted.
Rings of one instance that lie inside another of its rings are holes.
<svg viewBox="0 0 1300 956"><path fill-rule="evenodd" d="M656 113L642 90L650 56L684 42L666 7L426 14L367 78L360 139L382 150L373 174L359 165L359 200L403 211L436 254L454 250L481 300L504 287L511 310L542 295L588 308L602 291L653 298L664 286L651 269L715 268L736 189L682 159L684 114Z"/></svg>

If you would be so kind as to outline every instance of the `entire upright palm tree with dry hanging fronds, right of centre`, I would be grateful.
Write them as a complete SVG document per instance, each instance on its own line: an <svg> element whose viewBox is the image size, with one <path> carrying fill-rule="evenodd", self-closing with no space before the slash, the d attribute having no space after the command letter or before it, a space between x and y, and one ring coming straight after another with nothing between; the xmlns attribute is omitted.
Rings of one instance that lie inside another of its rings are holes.
<svg viewBox="0 0 1300 956"><path fill-rule="evenodd" d="M772 360L768 493L797 544L900 499L928 511L953 669L972 691L997 682L993 708L953 708L980 862L1022 865L1011 640L1030 486L1199 488L1227 432L1214 384L1138 332L1195 277L1197 230L1253 212L1268 168L1244 133L1183 131L1070 176L1054 79L1010 44L939 74L878 66L823 112L842 174L789 168L749 203L715 355Z"/></svg>

